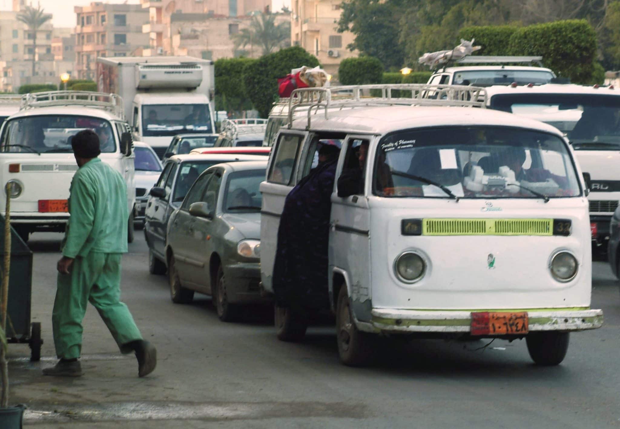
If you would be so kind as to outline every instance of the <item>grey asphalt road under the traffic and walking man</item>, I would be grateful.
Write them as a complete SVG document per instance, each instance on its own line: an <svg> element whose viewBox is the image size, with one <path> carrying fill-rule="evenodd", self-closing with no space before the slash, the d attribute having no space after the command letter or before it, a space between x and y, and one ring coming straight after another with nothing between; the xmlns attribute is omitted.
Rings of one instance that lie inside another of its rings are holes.
<svg viewBox="0 0 620 429"><path fill-rule="evenodd" d="M11 403L29 404L25 427L45 428L608 428L620 427L620 293L595 262L593 308L605 322L572 334L562 365L540 368L525 341L414 340L386 347L371 368L339 363L330 326L286 344L263 312L221 323L207 297L170 301L165 277L149 275L141 232L123 259L123 301L158 349L156 371L137 377L99 315L84 319L86 375L40 375L55 362L51 308L60 235L32 236L33 321L43 359L11 345Z"/></svg>

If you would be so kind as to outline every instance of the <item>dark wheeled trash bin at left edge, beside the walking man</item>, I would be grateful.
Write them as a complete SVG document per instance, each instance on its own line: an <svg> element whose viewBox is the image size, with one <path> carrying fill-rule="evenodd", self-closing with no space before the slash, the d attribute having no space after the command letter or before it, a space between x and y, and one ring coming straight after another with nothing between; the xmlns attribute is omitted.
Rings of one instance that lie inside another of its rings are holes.
<svg viewBox="0 0 620 429"><path fill-rule="evenodd" d="M4 216L0 216L0 231L4 231ZM4 234L0 234L0 261L4 260ZM2 263L0 262L0 268ZM32 251L11 227L11 271L9 272L9 302L7 304L6 337L11 343L28 344L30 360L41 358L41 323L30 323L32 303Z"/></svg>

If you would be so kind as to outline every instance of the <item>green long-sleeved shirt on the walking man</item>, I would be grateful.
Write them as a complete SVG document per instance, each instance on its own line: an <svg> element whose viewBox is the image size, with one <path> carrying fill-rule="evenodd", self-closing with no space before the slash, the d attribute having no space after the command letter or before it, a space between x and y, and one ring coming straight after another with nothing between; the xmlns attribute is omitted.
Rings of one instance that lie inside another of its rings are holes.
<svg viewBox="0 0 620 429"><path fill-rule="evenodd" d="M69 222L63 256L127 251L127 185L123 176L99 158L82 165L69 189Z"/></svg>

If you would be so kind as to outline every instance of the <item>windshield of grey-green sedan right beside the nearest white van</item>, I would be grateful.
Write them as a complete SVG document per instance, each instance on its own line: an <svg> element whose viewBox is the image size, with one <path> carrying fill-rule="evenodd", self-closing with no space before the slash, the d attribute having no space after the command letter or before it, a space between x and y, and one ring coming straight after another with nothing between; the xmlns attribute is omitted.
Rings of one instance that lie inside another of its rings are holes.
<svg viewBox="0 0 620 429"><path fill-rule="evenodd" d="M260 212L262 196L259 187L264 180L265 168L231 173L224 193L224 212Z"/></svg>

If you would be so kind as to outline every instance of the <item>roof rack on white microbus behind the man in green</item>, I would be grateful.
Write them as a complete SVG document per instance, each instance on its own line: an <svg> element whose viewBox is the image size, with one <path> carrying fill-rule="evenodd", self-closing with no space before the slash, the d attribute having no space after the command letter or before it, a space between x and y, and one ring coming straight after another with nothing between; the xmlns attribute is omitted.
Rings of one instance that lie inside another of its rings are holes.
<svg viewBox="0 0 620 429"><path fill-rule="evenodd" d="M120 95L91 91L50 91L29 93L22 97L19 110L50 106L84 106L108 111L125 120Z"/></svg>

